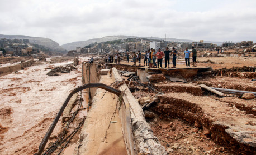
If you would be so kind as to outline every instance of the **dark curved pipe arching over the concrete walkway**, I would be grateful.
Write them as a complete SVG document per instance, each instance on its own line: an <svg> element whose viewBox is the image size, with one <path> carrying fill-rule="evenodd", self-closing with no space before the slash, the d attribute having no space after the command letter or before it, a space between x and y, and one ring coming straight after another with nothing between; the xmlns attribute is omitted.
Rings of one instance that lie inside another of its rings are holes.
<svg viewBox="0 0 256 155"><path fill-rule="evenodd" d="M39 149L38 149L38 153L35 153L37 155L41 155L42 152L44 151L45 145L48 142L49 137L51 136L51 133L53 132L56 124L58 123L61 114L63 113L64 109L66 108L70 98L73 96L73 94L82 91L83 89L86 88L101 88L101 89L105 89L108 92L111 92L113 94L116 94L117 96L119 96L121 94L122 91L114 89L110 86L107 86L106 84L102 84L102 83L88 83L88 84L84 84L83 86L80 86L78 88L75 88L67 97L67 99L65 100L65 102L63 103L62 107L60 108L58 114L56 115L56 117L54 118L53 123L51 123L51 126L49 127L48 131L46 132L44 138L42 139L40 145L39 145Z"/></svg>

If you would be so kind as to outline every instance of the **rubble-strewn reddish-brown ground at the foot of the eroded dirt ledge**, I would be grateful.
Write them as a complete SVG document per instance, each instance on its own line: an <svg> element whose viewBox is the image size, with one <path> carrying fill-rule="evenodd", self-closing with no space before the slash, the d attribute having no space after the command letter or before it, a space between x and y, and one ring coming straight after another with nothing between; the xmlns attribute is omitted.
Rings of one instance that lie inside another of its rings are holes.
<svg viewBox="0 0 256 155"><path fill-rule="evenodd" d="M170 154L229 154L230 150L211 141L201 129L181 119L157 117L148 122L158 141ZM175 139L182 134L180 139Z"/></svg>

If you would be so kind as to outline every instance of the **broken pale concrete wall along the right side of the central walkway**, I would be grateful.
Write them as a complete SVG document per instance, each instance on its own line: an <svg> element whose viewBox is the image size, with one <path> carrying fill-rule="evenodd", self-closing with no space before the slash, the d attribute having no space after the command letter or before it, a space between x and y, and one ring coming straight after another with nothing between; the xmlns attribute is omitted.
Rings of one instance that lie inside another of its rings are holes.
<svg viewBox="0 0 256 155"><path fill-rule="evenodd" d="M116 68L112 68L112 79L115 81L122 81ZM153 132L146 122L143 109L138 101L134 98L127 85L124 83L119 87L121 91L124 91L125 105L120 107L120 119L122 122L122 128L125 136L126 147L132 151L133 144L136 148L136 153L151 153L151 154L167 154L165 148L154 138ZM124 106L124 107L122 107ZM122 108L126 108L126 111ZM124 114L125 113L125 114ZM126 119L126 120L124 120ZM131 123L131 127L130 127ZM130 134L133 135L130 135ZM134 139L135 142L132 142ZM130 146L129 146L130 145Z"/></svg>

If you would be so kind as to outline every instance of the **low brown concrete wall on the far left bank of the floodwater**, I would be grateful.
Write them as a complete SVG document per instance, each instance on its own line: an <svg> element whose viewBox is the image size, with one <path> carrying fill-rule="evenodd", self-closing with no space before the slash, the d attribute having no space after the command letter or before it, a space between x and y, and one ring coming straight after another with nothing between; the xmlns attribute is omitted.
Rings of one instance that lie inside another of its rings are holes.
<svg viewBox="0 0 256 155"><path fill-rule="evenodd" d="M4 76L4 75L10 74L12 72L19 71L21 69L29 67L34 62L35 61L32 59L32 60L29 60L29 61L26 61L26 62L22 62L20 64L16 64L16 65L13 65L13 66L1 67L0 68L0 76Z"/></svg>

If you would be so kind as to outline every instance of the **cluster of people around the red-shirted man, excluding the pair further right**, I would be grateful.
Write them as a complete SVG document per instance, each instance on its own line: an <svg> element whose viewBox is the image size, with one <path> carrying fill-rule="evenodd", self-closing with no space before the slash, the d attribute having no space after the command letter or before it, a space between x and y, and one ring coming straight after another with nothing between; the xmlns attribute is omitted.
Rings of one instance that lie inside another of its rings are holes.
<svg viewBox="0 0 256 155"><path fill-rule="evenodd" d="M149 67L161 67L162 68L162 63L163 63L163 56L164 57L164 61L165 61L165 67L167 68L167 64L168 64L168 68L170 68L170 56L173 56L173 66L172 68L176 67L176 58L177 58L177 51L176 49L173 47L172 51L169 50L169 47L165 48L165 51L161 51L161 49L158 49L158 52L155 51L155 49L149 49L148 51L145 51L145 57L144 57L144 66L149 66ZM157 61L157 62L156 62Z"/></svg>

